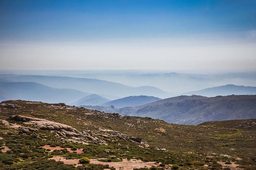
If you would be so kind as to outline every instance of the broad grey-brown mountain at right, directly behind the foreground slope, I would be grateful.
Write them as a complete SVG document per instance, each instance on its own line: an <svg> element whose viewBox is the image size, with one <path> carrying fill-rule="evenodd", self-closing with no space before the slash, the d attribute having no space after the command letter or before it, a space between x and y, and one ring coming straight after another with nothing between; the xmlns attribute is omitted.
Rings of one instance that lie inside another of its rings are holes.
<svg viewBox="0 0 256 170"><path fill-rule="evenodd" d="M104 112L163 119L169 123L200 124L206 121L256 118L256 95L216 97L183 95L120 109L103 106L86 107Z"/></svg>

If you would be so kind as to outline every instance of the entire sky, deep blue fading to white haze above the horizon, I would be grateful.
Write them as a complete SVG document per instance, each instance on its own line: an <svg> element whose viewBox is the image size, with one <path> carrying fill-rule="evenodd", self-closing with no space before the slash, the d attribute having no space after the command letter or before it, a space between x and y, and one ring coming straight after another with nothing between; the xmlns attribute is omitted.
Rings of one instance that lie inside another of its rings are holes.
<svg viewBox="0 0 256 170"><path fill-rule="evenodd" d="M0 69L256 70L256 1L0 1Z"/></svg>

